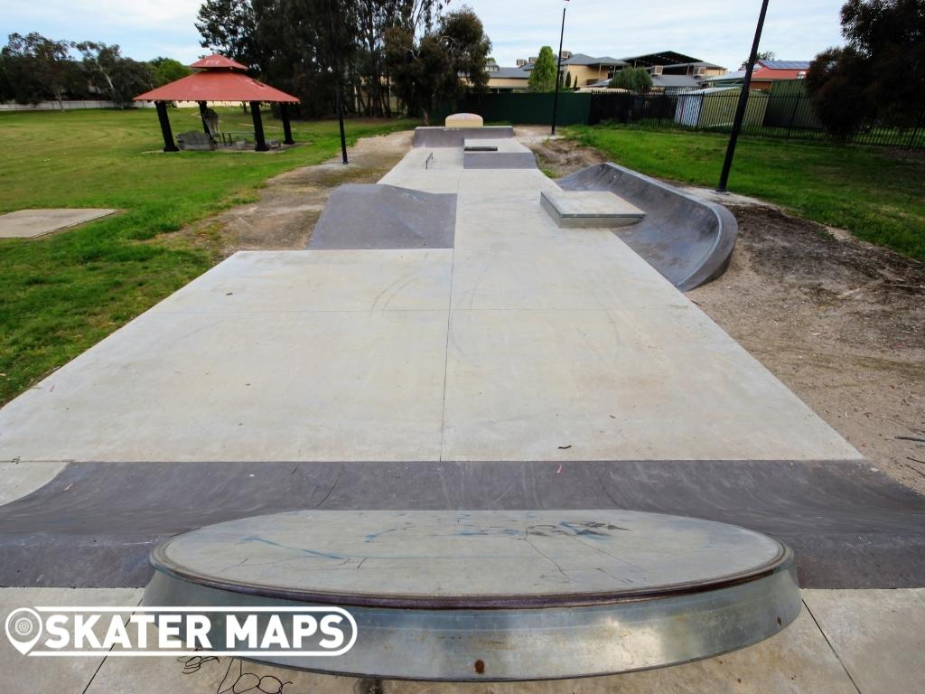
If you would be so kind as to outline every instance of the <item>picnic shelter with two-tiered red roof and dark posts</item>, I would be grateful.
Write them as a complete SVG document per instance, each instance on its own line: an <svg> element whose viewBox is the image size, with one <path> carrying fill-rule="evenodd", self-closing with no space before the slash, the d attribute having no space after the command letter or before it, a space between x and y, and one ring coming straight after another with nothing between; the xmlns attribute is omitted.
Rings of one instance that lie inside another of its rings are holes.
<svg viewBox="0 0 925 694"><path fill-rule="evenodd" d="M170 130L170 120L167 118L167 102L195 101L199 103L199 113L203 118L203 131L209 137L214 137L208 118L206 104L216 101L240 101L251 105L253 118L253 138L258 152L265 152L269 147L264 135L264 124L260 117L262 103L279 104L280 115L283 121L283 140L286 144L294 144L292 128L290 125L289 105L298 104L299 99L291 94L280 92L278 89L254 80L247 74L247 66L241 65L237 60L217 54L205 56L191 68L197 70L188 77L172 81L163 87L157 87L150 92L139 94L135 101L153 101L157 108L157 118L161 122L161 133L164 135L164 151L176 152L173 132Z"/></svg>

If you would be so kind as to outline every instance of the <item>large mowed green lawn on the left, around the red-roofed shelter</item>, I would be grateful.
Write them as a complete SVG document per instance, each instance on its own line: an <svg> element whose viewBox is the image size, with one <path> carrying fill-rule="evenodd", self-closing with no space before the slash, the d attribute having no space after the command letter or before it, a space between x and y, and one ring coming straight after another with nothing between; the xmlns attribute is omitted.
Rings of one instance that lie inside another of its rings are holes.
<svg viewBox="0 0 925 694"><path fill-rule="evenodd" d="M226 130L250 115L220 112ZM201 130L171 109L174 133ZM267 138L281 124L265 112ZM349 120L350 142L412 121ZM271 154L161 152L154 109L0 114L0 214L34 207L114 207L116 217L34 240L0 239L0 403L176 291L216 256L157 240L232 204L268 178L339 152L337 121L293 123L302 146Z"/></svg>

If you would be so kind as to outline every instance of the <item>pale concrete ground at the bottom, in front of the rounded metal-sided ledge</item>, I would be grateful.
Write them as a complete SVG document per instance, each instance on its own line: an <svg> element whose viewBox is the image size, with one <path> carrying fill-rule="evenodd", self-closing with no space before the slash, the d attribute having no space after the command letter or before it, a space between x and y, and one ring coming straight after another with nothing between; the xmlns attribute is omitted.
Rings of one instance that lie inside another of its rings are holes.
<svg viewBox="0 0 925 694"><path fill-rule="evenodd" d="M0 613L27 605L133 607L141 590L4 589ZM385 694L881 694L925 691L925 590L804 590L804 609L781 633L742 651L675 667L560 682L435 684L386 681ZM858 622L863 627L858 627ZM152 627L153 629L153 627ZM152 640L154 635L152 634ZM231 658L25 658L0 639L5 691L62 694L356 694L372 682L313 675ZM261 688L256 688L257 683Z"/></svg>

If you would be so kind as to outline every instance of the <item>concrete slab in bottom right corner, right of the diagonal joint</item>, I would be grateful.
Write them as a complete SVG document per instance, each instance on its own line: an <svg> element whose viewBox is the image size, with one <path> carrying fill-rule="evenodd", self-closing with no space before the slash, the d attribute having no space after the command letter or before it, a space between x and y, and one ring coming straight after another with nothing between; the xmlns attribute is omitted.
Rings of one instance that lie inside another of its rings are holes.
<svg viewBox="0 0 925 694"><path fill-rule="evenodd" d="M804 601L862 694L925 692L925 589L807 590Z"/></svg>

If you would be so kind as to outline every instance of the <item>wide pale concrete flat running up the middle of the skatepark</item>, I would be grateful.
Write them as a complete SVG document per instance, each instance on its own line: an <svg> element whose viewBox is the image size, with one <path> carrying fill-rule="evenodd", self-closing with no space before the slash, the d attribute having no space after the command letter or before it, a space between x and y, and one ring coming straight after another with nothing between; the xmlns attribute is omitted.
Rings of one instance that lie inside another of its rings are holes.
<svg viewBox="0 0 925 694"><path fill-rule="evenodd" d="M235 254L0 411L0 460L847 460L859 454L536 169L413 150L455 248Z"/></svg>

